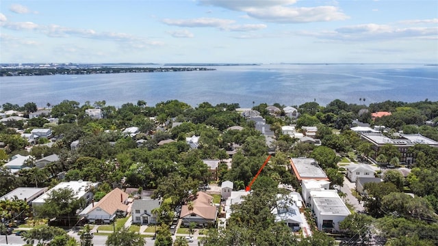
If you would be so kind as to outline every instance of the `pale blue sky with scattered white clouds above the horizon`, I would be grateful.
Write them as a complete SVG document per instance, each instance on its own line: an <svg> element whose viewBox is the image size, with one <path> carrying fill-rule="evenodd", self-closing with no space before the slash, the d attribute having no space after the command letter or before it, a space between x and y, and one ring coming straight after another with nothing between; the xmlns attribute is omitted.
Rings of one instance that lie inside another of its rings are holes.
<svg viewBox="0 0 438 246"><path fill-rule="evenodd" d="M438 1L1 0L26 62L438 63Z"/></svg>

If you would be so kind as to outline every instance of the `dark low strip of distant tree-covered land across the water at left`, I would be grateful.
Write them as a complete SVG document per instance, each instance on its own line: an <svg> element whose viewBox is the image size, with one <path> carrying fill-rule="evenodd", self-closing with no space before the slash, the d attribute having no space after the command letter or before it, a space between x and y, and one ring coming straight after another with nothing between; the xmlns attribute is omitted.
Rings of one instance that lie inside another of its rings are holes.
<svg viewBox="0 0 438 246"><path fill-rule="evenodd" d="M131 72L187 72L187 71L211 71L214 68L0 68L0 77L14 76L44 76L55 74L115 74L115 73L131 73Z"/></svg>

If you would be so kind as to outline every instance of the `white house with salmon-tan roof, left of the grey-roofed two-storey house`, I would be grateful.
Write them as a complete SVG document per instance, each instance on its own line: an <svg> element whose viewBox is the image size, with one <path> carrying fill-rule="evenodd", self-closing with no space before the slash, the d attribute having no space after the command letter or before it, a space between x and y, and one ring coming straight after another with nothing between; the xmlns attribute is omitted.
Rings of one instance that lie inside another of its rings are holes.
<svg viewBox="0 0 438 246"><path fill-rule="evenodd" d="M99 202L92 202L80 214L90 223L110 223L116 217L125 217L128 210L129 195L121 189L114 189L107 193Z"/></svg>

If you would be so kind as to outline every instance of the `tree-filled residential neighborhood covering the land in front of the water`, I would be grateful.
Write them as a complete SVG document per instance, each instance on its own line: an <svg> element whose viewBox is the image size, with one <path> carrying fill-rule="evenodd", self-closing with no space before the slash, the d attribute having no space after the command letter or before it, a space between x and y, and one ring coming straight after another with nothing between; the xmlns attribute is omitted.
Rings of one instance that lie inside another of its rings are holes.
<svg viewBox="0 0 438 246"><path fill-rule="evenodd" d="M435 113L398 126L408 116L379 112L387 103L5 104L0 229L30 245L55 244L40 228L76 245L119 234L146 245L393 245L411 232L390 234L391 220L433 232L438 133L426 121L438 121L438 105L418 102Z"/></svg>

